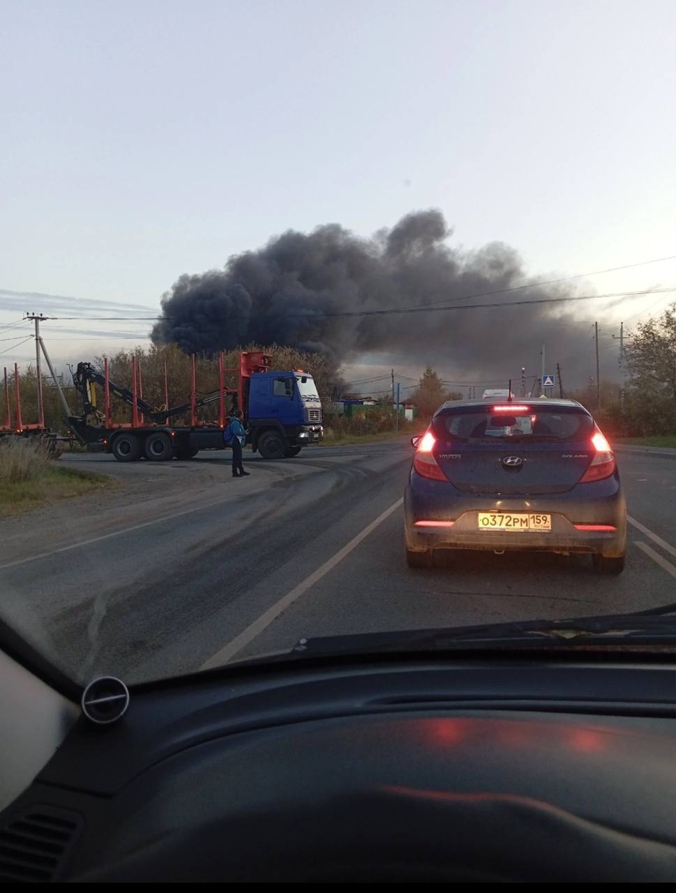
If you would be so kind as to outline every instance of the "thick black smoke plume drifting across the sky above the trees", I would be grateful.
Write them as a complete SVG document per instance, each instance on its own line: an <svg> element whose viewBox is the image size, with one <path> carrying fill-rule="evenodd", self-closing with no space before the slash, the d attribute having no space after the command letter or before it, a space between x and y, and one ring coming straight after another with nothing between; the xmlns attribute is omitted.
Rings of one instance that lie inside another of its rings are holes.
<svg viewBox="0 0 676 893"><path fill-rule="evenodd" d="M529 279L510 246L493 242L466 251L449 244L451 234L437 210L407 214L373 238L359 238L336 223L309 235L289 230L263 248L230 257L222 271L181 276L163 296L153 340L175 342L187 353L276 343L318 350L339 362L378 355L392 363L431 363L461 380L516 378L522 365L536 373L545 342L547 365L561 363L569 387L586 383L595 360L588 318L580 319L584 302L327 315L572 294L565 284L459 300ZM605 351L602 360L606 372L616 371L614 355Z"/></svg>

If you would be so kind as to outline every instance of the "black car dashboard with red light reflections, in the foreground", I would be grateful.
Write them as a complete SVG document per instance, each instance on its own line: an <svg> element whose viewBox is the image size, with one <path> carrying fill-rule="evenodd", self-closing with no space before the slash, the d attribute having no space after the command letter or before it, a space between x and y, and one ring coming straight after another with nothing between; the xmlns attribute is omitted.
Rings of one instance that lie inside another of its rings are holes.
<svg viewBox="0 0 676 893"><path fill-rule="evenodd" d="M0 815L0 878L674 880L672 655L225 668L84 715Z"/></svg>

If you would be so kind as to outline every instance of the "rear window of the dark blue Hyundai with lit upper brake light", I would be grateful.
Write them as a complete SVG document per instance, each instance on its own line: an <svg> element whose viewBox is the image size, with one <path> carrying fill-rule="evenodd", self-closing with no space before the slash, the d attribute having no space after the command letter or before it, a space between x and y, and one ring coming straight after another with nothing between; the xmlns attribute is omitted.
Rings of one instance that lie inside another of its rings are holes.
<svg viewBox="0 0 676 893"><path fill-rule="evenodd" d="M515 411L495 406L468 406L447 410L434 417L433 428L439 438L461 443L534 443L561 441L579 443L594 430L594 421L582 409L561 406L517 405Z"/></svg>

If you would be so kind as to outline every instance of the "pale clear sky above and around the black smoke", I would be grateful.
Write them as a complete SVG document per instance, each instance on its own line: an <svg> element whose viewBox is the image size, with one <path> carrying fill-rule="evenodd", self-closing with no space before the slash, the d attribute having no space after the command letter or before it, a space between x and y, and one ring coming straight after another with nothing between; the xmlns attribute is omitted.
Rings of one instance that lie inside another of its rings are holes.
<svg viewBox="0 0 676 893"><path fill-rule="evenodd" d="M12 292L152 313L288 228L428 207L544 278L674 255L675 96L673 0L0 0L0 327ZM674 284L673 262L584 283ZM148 325L45 334L76 359Z"/></svg>

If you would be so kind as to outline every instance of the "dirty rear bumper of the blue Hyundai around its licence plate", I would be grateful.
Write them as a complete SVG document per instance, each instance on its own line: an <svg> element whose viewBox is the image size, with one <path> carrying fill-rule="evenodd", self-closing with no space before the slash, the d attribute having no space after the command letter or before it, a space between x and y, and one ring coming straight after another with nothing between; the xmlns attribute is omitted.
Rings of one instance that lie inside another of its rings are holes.
<svg viewBox="0 0 676 893"><path fill-rule="evenodd" d="M591 492L589 488L592 489ZM480 530L480 512L547 513L552 529ZM581 552L607 557L624 555L626 505L619 478L578 485L571 491L538 497L484 497L463 493L415 472L405 490L406 547L488 549L510 552ZM451 527L416 527L419 521L453 522ZM593 524L614 530L579 530Z"/></svg>

